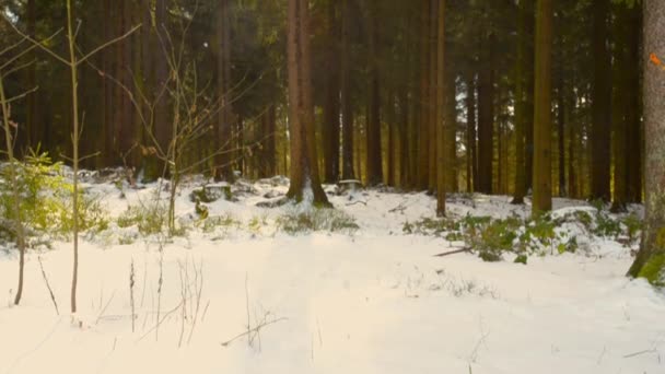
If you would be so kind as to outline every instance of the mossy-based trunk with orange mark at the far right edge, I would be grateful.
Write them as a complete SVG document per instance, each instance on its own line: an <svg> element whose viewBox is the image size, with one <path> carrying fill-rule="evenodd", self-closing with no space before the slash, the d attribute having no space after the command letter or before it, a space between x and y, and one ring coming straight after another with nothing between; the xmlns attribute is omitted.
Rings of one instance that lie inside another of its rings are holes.
<svg viewBox="0 0 665 374"><path fill-rule="evenodd" d="M645 226L638 257L628 271L665 285L665 72L649 55L665 56L665 2L644 0L644 125L646 133Z"/></svg>

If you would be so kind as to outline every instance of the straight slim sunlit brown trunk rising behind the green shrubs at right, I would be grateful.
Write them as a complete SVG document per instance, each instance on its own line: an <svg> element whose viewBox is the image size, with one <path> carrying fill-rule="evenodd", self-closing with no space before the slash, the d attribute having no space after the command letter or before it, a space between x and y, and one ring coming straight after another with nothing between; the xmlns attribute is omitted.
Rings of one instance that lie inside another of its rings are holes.
<svg viewBox="0 0 665 374"><path fill-rule="evenodd" d="M534 116L534 214L549 211L552 208L551 51L552 2L551 0L538 0L536 17L536 91Z"/></svg>

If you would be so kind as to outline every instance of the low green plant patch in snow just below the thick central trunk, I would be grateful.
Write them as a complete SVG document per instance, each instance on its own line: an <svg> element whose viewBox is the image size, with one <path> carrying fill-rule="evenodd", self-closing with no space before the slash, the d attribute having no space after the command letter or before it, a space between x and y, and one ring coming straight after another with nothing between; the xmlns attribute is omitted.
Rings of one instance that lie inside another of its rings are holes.
<svg viewBox="0 0 665 374"><path fill-rule="evenodd" d="M294 209L279 217L277 225L290 235L316 231L350 234L360 229L351 215L330 208Z"/></svg>

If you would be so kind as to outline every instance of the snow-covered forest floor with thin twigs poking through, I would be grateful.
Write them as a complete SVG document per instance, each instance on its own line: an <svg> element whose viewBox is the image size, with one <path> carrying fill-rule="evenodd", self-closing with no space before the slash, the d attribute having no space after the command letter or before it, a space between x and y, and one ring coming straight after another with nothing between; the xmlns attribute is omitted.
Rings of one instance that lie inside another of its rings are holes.
<svg viewBox="0 0 665 374"><path fill-rule="evenodd" d="M197 225L189 192L200 183L177 198L185 224ZM155 188L86 184L113 217L150 203ZM86 234L75 315L71 243L31 252L20 307L10 306L18 256L0 249L0 374L665 373L665 294L625 277L631 249L616 241L526 266L433 257L455 244L402 230L433 217L424 194L329 194L359 230L288 234L280 217L301 208L256 206L283 196L288 180L233 189L236 201L207 204L219 225L185 236L164 242L116 223ZM455 196L448 209L528 213L509 201ZM564 199L555 208L590 209Z"/></svg>

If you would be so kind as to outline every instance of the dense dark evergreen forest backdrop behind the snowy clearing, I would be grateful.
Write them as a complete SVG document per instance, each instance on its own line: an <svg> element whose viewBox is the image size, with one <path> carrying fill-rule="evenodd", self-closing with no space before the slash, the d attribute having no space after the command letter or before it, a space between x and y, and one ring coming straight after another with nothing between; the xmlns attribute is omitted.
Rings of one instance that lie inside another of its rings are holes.
<svg viewBox="0 0 665 374"><path fill-rule="evenodd" d="M617 209L642 200L640 1L552 1L551 43L535 43L534 0L307 4L305 106L313 113L303 121L315 130L322 182L432 191L443 183L448 192L521 202L533 171L549 168L553 196L612 200ZM178 155L187 171L290 174L290 140L298 137L288 129L288 1L100 0L72 8L81 52L140 25L80 66L80 154L92 155L84 167L127 165L148 179L161 176L160 153L176 133L185 137L174 132L177 121L190 131ZM21 38L9 21L66 55L67 35L56 34L67 22L63 1L9 0L3 9L4 47ZM536 57L545 55L551 167L534 167ZM40 48L18 63L26 66L4 82L10 97L30 91L11 105L16 154L38 148L71 156L67 67Z"/></svg>

